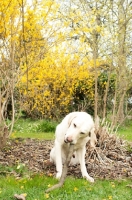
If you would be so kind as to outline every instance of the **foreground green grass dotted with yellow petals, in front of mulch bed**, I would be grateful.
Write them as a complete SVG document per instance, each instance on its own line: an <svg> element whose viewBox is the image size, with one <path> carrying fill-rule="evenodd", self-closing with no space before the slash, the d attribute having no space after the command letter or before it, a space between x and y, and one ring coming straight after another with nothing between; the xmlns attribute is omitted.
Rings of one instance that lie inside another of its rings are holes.
<svg viewBox="0 0 132 200"><path fill-rule="evenodd" d="M13 200L14 194L26 193L26 200L131 200L132 189L127 187L130 180L100 181L91 184L83 179L67 178L62 188L48 194L45 190L57 181L53 177L35 175L30 178L15 179L0 176L0 199Z"/></svg>

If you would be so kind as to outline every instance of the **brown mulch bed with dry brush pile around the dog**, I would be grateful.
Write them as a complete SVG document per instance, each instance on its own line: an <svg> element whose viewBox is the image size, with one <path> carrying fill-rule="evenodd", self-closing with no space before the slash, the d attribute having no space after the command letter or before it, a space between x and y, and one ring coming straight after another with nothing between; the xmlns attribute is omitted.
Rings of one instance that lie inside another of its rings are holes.
<svg viewBox="0 0 132 200"><path fill-rule="evenodd" d="M132 178L132 143L126 142L116 134L109 134L105 127L98 129L97 139L96 149L91 149L89 144L86 148L86 166L90 176L95 179ZM24 164L32 172L54 176L55 166L49 162L52 147L53 141L9 140L6 147L0 151L0 164L4 166ZM79 165L69 166L68 175L80 178Z"/></svg>

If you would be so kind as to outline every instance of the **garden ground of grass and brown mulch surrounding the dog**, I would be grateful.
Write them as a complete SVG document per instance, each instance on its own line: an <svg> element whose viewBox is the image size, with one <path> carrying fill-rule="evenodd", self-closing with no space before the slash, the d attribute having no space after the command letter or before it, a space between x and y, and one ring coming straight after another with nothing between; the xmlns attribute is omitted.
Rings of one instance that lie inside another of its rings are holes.
<svg viewBox="0 0 132 200"><path fill-rule="evenodd" d="M116 144L115 139L107 136L109 140L106 143L106 150L101 144L100 147L96 147L98 156L95 152L87 151L87 170L95 178L94 183L82 179L80 167L77 165L68 168L62 188L46 193L48 188L58 182L55 179L55 166L48 163L54 143L55 127L55 122L45 120L19 119L15 123L12 136L0 153L2 200L15 199L15 194L22 194L20 199L27 200L131 199L131 122L127 122L119 129L117 135L120 139L116 139ZM104 155L108 160L103 157Z"/></svg>

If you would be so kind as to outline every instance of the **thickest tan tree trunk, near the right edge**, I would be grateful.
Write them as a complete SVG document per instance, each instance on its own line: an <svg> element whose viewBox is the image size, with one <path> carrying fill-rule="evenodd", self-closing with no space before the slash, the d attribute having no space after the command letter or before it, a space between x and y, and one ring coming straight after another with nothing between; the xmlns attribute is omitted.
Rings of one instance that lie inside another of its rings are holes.
<svg viewBox="0 0 132 200"><path fill-rule="evenodd" d="M118 2L118 69L119 69L119 88L118 88L118 110L117 121L122 122L124 120L124 100L127 91L127 70L126 70L126 25L124 25L126 14L123 6L124 0Z"/></svg>

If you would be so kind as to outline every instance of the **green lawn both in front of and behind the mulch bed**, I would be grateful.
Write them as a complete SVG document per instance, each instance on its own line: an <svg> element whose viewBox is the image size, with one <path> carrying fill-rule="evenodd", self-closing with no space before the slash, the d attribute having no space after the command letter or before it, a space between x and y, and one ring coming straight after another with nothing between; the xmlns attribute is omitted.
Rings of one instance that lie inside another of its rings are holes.
<svg viewBox="0 0 132 200"><path fill-rule="evenodd" d="M42 120L33 121L30 119L20 119L14 126L11 138L37 138L51 140L54 139L56 123L43 122ZM122 126L118 134L132 141L132 123ZM26 200L131 200L132 199L132 180L99 180L95 177L95 183L89 183L84 179L67 177L62 188L50 193L45 193L57 180L44 174L31 174L24 171L18 179L11 173L3 173L6 169L0 168L0 199L13 200L14 194L24 193ZM15 169L18 170L18 169ZM24 169L22 169L24 170ZM9 171L9 170L8 170Z"/></svg>

